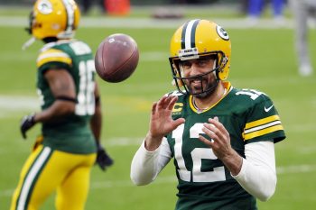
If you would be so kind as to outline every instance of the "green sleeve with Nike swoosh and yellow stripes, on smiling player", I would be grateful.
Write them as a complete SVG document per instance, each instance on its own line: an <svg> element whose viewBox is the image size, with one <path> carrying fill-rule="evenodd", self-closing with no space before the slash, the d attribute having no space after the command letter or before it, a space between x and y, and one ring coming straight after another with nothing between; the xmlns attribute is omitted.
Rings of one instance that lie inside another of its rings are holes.
<svg viewBox="0 0 316 210"><path fill-rule="evenodd" d="M271 140L280 142L285 138L280 116L269 96L262 94L253 101L247 111L242 134L246 143Z"/></svg>

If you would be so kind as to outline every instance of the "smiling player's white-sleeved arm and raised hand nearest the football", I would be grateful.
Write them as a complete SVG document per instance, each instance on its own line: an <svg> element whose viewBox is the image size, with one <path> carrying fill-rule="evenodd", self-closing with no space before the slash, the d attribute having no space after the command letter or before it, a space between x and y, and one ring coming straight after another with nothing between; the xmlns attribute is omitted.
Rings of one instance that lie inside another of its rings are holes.
<svg viewBox="0 0 316 210"><path fill-rule="evenodd" d="M171 159L169 144L164 136L185 121L183 118L172 119L172 108L177 100L177 96L163 96L153 103L149 131L132 160L130 176L135 185L152 182Z"/></svg>

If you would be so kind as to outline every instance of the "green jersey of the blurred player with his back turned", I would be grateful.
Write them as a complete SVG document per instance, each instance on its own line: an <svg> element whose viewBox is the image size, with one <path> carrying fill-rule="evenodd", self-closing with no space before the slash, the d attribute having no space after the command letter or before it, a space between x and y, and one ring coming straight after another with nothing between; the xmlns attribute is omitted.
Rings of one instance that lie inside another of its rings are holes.
<svg viewBox="0 0 316 210"><path fill-rule="evenodd" d="M42 123L43 144L73 153L95 152L96 142L89 121L95 113L95 67L92 50L83 41L57 41L46 44L37 59L37 88L42 110L55 102L45 71L66 69L76 87L75 114L56 123Z"/></svg>

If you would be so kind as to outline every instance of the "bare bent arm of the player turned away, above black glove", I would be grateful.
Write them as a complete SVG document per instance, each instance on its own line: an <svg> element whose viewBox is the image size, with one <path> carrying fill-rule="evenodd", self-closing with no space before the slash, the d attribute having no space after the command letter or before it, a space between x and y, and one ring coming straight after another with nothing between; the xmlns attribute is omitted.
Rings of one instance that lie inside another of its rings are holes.
<svg viewBox="0 0 316 210"><path fill-rule="evenodd" d="M49 69L44 74L55 101L49 108L35 114L34 121L35 123L54 123L75 112L76 88L66 69Z"/></svg>

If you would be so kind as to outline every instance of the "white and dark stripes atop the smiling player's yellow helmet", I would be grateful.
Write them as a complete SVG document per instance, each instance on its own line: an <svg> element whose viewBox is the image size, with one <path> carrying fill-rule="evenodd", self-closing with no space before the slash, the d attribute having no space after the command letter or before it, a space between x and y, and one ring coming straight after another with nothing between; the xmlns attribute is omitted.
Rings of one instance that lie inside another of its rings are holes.
<svg viewBox="0 0 316 210"><path fill-rule="evenodd" d="M195 48L195 32L200 20L192 20L183 26L181 33L181 49Z"/></svg>

